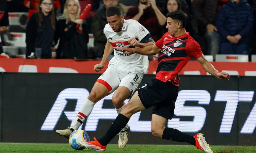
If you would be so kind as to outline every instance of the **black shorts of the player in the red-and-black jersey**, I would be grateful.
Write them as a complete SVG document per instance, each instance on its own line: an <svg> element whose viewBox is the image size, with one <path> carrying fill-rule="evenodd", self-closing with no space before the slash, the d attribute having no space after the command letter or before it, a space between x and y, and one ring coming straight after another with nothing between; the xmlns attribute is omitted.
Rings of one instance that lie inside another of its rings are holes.
<svg viewBox="0 0 256 153"><path fill-rule="evenodd" d="M138 88L138 94L143 106L148 109L153 106L152 114L172 119L175 101L178 96L178 87L169 81L163 82L153 79Z"/></svg>

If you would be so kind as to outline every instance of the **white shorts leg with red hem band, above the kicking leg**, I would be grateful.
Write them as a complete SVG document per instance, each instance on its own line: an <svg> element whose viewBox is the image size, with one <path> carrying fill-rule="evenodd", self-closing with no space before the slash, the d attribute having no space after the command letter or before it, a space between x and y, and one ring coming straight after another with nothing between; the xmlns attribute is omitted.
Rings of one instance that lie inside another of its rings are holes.
<svg viewBox="0 0 256 153"><path fill-rule="evenodd" d="M109 66L96 82L104 85L111 94L119 87L120 79L112 66Z"/></svg>

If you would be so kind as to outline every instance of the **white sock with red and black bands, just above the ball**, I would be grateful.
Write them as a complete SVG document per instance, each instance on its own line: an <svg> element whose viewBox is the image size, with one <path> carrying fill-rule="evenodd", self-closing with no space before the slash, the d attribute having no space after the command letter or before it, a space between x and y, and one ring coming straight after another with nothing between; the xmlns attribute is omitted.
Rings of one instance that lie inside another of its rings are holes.
<svg viewBox="0 0 256 153"><path fill-rule="evenodd" d="M70 128L77 130L81 126L81 124L85 121L87 116L91 114L94 105L95 104L87 98L83 103L81 109L79 110L79 113L73 119L70 125Z"/></svg>

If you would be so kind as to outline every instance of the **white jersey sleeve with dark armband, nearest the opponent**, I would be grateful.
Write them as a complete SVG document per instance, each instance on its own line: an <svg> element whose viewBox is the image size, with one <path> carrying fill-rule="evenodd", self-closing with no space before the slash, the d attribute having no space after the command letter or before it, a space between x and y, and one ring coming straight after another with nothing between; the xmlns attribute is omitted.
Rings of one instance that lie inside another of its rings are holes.
<svg viewBox="0 0 256 153"><path fill-rule="evenodd" d="M139 39L139 42L148 43L149 41L154 41L149 31L140 23L136 22L133 27L133 30L136 33L136 37Z"/></svg>

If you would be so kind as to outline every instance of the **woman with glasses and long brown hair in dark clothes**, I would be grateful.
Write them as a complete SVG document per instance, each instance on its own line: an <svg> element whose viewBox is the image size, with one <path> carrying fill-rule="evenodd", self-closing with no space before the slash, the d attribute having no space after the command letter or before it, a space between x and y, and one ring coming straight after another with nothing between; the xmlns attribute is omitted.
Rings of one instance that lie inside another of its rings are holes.
<svg viewBox="0 0 256 153"><path fill-rule="evenodd" d="M51 58L55 24L53 0L40 0L36 13L32 14L26 28L26 57Z"/></svg>

